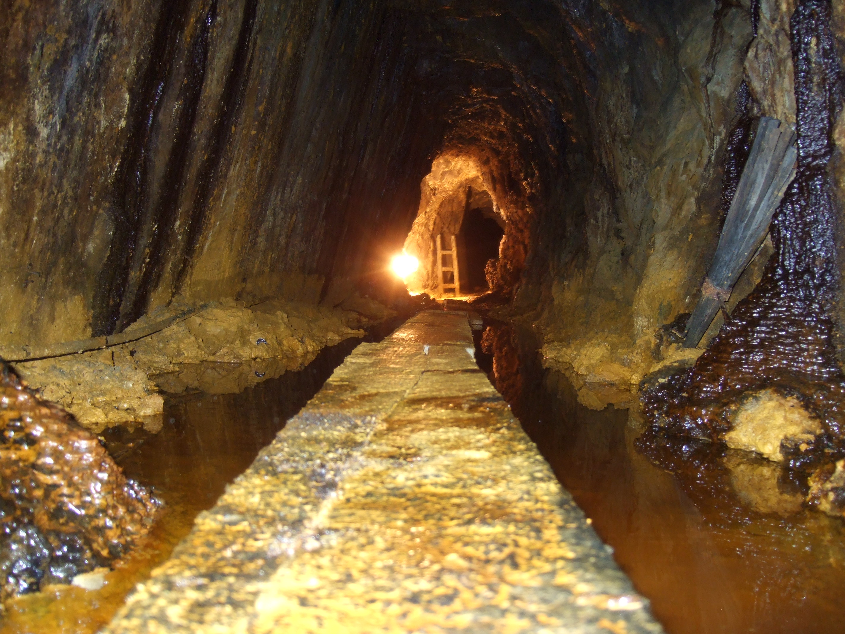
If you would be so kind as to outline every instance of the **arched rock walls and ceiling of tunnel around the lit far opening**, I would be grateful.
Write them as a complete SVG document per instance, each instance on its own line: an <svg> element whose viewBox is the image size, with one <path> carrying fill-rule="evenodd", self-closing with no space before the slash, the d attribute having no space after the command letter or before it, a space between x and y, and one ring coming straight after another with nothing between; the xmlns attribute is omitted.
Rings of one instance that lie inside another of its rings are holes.
<svg viewBox="0 0 845 634"><path fill-rule="evenodd" d="M797 121L796 4L831 10L16 5L0 70L3 337L101 335L174 302L317 302L338 284L388 298L385 263L448 158L477 166L504 221L491 287L544 358L627 390L657 329L695 305L741 125Z"/></svg>

